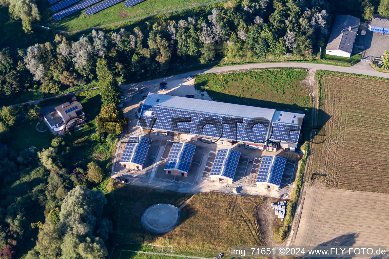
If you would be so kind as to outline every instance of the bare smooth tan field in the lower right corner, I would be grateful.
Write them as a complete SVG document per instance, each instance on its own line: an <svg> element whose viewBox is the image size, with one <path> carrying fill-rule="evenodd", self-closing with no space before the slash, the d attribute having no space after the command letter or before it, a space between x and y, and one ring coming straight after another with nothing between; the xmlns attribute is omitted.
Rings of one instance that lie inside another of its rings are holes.
<svg viewBox="0 0 389 259"><path fill-rule="evenodd" d="M295 246L389 247L389 195L306 187Z"/></svg>

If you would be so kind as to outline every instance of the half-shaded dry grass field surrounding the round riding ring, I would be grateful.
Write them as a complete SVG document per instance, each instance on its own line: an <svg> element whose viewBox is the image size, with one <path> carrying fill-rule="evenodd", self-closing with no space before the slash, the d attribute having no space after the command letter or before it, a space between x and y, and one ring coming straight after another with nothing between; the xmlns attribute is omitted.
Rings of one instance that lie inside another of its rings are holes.
<svg viewBox="0 0 389 259"><path fill-rule="evenodd" d="M225 252L229 258L231 245L259 245L263 241L257 221L258 207L264 201L261 196L197 193L181 209L177 228L155 235L140 224L144 210L156 203L179 206L192 194L123 184L115 184L114 188L106 195L109 205L105 207L114 223L111 249L118 243L147 243L172 245L175 254L180 255L212 258ZM119 259L122 249L137 250L128 245L116 246L111 259Z"/></svg>

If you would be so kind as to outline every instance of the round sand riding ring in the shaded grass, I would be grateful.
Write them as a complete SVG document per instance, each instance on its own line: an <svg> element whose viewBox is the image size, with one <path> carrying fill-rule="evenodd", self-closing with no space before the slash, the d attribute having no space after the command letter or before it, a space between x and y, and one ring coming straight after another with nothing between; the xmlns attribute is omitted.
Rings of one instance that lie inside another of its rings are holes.
<svg viewBox="0 0 389 259"><path fill-rule="evenodd" d="M150 206L140 218L142 226L147 231L158 234L173 230L179 220L180 214L177 207L166 203L158 203Z"/></svg>

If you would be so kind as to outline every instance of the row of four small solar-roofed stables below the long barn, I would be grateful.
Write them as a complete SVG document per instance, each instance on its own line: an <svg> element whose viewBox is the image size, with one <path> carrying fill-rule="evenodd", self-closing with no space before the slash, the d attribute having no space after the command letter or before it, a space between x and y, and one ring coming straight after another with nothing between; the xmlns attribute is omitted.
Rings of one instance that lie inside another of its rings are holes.
<svg viewBox="0 0 389 259"><path fill-rule="evenodd" d="M130 137L119 163L130 170L142 170L150 146L151 141L146 137ZM195 149L196 146L190 143L173 143L165 164L166 174L187 176ZM226 180L232 184L240 154L233 149L218 149L210 172L211 181ZM263 156L256 180L257 187L278 190L285 164L286 158Z"/></svg>

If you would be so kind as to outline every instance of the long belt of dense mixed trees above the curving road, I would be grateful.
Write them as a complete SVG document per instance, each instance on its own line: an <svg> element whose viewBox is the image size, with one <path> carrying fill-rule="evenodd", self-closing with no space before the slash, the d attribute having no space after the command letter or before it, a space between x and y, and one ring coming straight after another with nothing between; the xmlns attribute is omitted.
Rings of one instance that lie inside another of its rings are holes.
<svg viewBox="0 0 389 259"><path fill-rule="evenodd" d="M116 78L163 75L222 57L295 54L308 59L328 35L326 8L315 1L230 1L204 8L196 17L146 21L132 31L93 30L74 41L57 35L53 42L0 52L0 94L11 97L32 89L54 94L95 79L114 84ZM101 66L112 72L107 78L99 78Z"/></svg>

